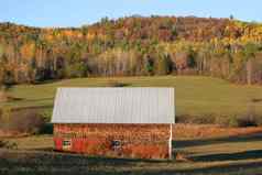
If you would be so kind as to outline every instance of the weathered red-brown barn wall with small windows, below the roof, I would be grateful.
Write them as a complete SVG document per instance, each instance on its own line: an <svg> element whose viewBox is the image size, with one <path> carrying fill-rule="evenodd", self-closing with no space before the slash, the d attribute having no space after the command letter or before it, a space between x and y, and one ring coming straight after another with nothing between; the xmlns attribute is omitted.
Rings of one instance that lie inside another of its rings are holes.
<svg viewBox="0 0 262 175"><path fill-rule="evenodd" d="M55 149L91 155L168 157L168 124L54 124Z"/></svg>

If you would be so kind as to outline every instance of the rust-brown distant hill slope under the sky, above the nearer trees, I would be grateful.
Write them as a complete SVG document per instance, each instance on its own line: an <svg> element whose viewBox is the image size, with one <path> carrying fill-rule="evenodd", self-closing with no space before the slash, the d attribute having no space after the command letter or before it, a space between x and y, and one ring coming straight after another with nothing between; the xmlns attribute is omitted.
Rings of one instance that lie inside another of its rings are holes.
<svg viewBox="0 0 262 175"><path fill-rule="evenodd" d="M112 40L157 40L173 42L210 41L212 39L249 37L262 40L262 25L230 19L175 18L175 17L130 17L118 20L101 19L100 22L83 28L31 28L14 23L0 23L0 31L7 35L50 35L57 39L108 36ZM3 33L2 33L3 34ZM57 36L58 35L58 36ZM259 39L260 37L260 39Z"/></svg>

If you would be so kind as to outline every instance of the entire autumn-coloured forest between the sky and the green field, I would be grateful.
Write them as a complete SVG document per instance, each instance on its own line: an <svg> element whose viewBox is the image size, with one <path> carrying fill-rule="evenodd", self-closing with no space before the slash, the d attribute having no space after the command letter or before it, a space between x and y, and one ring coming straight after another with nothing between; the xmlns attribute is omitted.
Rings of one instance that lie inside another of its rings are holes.
<svg viewBox="0 0 262 175"><path fill-rule="evenodd" d="M79 29L0 24L0 83L91 76L207 75L262 83L262 25L131 17Z"/></svg>

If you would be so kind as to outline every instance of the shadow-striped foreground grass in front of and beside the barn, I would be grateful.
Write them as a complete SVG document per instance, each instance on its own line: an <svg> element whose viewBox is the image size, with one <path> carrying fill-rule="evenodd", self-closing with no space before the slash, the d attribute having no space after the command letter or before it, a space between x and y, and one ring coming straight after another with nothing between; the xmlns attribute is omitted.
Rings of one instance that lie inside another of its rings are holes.
<svg viewBox="0 0 262 175"><path fill-rule="evenodd" d="M52 135L9 139L18 150L0 149L0 174L256 175L262 172L261 136L175 140L174 152L186 161L171 162L57 153L52 151Z"/></svg>

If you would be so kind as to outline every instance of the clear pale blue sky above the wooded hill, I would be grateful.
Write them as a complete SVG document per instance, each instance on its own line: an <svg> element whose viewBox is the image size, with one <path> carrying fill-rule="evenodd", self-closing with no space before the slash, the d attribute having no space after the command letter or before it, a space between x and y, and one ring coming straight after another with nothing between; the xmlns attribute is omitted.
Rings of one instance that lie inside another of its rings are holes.
<svg viewBox="0 0 262 175"><path fill-rule="evenodd" d="M103 17L196 15L262 22L262 0L1 0L0 22L80 26Z"/></svg>

